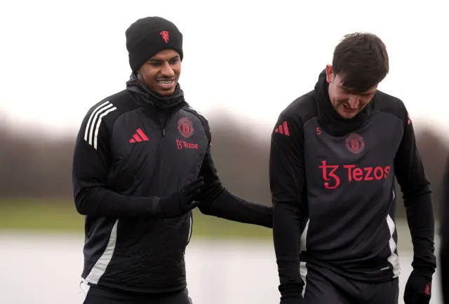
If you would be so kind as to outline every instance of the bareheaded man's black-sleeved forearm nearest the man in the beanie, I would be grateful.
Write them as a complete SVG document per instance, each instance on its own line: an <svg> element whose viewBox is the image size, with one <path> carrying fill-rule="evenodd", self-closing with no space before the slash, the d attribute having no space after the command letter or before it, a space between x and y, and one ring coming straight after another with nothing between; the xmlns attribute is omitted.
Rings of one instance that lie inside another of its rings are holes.
<svg viewBox="0 0 449 304"><path fill-rule="evenodd" d="M300 218L293 204L274 205L273 240L281 298L301 296L304 284L300 276Z"/></svg>

